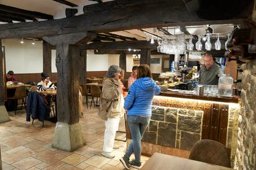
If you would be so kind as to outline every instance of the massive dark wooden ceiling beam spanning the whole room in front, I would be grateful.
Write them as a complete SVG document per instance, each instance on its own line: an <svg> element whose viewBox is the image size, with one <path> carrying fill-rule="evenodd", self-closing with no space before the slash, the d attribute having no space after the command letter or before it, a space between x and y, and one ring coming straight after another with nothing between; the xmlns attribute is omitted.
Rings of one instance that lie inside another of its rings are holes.
<svg viewBox="0 0 256 170"><path fill-rule="evenodd" d="M111 31L152 28L157 26L213 25L228 23L240 24L245 22L245 18L240 18L238 14L236 19L230 17L215 18L215 20L201 19L196 14L189 14L184 2L182 1L119 1L123 3L124 7L121 5L111 6L111 8L109 8L111 10L87 13L70 18L62 18L59 20L0 25L0 38L33 38L56 34L77 33L80 31L109 33ZM109 5L113 5L114 2L116 1L109 1L93 5L109 7ZM135 3L137 6L129 6L131 3ZM87 7L90 6L92 5ZM251 14L251 11L248 11L248 14Z"/></svg>

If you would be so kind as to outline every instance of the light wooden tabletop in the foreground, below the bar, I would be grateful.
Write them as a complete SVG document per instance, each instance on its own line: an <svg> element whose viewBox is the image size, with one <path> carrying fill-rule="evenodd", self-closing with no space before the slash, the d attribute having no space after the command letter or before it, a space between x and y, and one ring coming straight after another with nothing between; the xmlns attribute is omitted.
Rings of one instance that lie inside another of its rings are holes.
<svg viewBox="0 0 256 170"><path fill-rule="evenodd" d="M141 170L229 170L224 166L204 163L200 161L179 158L177 156L165 155L163 153L154 153L148 161L143 165Z"/></svg>

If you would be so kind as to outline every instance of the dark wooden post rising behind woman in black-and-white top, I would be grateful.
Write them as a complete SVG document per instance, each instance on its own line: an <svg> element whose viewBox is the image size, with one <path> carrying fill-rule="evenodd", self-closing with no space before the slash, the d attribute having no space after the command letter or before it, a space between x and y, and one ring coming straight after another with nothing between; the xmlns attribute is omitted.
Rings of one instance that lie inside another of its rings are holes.
<svg viewBox="0 0 256 170"><path fill-rule="evenodd" d="M51 78L51 44L43 40L43 72Z"/></svg>

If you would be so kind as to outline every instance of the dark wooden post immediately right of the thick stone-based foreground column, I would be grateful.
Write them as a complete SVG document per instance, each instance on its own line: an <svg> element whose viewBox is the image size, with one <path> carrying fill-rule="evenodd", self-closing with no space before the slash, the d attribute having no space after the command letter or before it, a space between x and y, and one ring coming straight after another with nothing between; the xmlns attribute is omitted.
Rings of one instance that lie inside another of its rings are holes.
<svg viewBox="0 0 256 170"><path fill-rule="evenodd" d="M86 84L87 51L80 50L79 84Z"/></svg>

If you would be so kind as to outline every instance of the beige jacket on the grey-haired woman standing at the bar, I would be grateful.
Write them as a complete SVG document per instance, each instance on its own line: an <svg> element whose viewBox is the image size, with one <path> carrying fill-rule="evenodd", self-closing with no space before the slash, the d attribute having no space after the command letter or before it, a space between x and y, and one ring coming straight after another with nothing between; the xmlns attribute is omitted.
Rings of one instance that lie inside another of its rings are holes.
<svg viewBox="0 0 256 170"><path fill-rule="evenodd" d="M119 81L113 78L105 78L100 97L100 108L98 116L107 120L121 115L121 110L117 109L119 99L122 94L122 89L118 87Z"/></svg>

